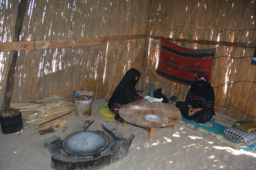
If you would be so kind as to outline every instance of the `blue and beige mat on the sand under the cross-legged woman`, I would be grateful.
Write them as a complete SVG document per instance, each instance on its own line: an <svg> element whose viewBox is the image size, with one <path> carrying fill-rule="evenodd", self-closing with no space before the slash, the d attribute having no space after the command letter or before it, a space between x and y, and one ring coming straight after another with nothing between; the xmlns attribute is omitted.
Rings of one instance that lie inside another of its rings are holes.
<svg viewBox="0 0 256 170"><path fill-rule="evenodd" d="M226 135L224 134L224 130L231 128L234 123L233 120L229 120L228 118L223 118L220 116L213 116L211 121L201 124L193 121L189 121L186 118L182 117L180 124L186 125L191 129L198 130L204 134L210 134L219 141L226 143L226 145L233 147L235 149L242 150L253 150L256 147L256 140L251 142L241 142L236 143L228 140ZM247 149L246 149L247 148Z"/></svg>

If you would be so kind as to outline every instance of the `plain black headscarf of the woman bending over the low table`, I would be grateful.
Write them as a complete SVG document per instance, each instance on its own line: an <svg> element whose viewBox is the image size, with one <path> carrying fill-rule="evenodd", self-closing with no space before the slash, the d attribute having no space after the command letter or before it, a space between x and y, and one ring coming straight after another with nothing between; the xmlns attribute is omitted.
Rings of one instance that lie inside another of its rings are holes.
<svg viewBox="0 0 256 170"><path fill-rule="evenodd" d="M135 78L138 77L136 80ZM121 104L126 104L122 101L124 101L123 96L120 95L120 89L126 87L127 90L129 90L129 94L134 95L137 94L137 90L135 89L135 85L137 84L138 80L140 78L140 72L136 69L130 69L127 71L123 77L123 79L119 82L118 86L113 92L113 95L111 96L109 100L109 107L113 103L121 103ZM119 101L119 102L118 102Z"/></svg>

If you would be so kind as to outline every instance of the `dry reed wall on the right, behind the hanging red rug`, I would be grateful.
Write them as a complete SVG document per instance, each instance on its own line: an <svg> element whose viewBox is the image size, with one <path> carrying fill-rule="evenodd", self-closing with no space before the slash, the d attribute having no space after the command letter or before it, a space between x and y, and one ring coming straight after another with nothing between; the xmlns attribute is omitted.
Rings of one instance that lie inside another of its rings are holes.
<svg viewBox="0 0 256 170"><path fill-rule="evenodd" d="M255 43L256 5L253 1L156 1L153 11L154 36ZM211 73L215 111L237 120L256 120L256 66L251 65L254 49L174 43L194 49L217 47ZM149 58L159 56L159 47L160 40L151 41ZM155 66L154 62L150 64ZM155 70L154 75L158 78ZM188 86L166 82L169 85L166 95L185 100Z"/></svg>

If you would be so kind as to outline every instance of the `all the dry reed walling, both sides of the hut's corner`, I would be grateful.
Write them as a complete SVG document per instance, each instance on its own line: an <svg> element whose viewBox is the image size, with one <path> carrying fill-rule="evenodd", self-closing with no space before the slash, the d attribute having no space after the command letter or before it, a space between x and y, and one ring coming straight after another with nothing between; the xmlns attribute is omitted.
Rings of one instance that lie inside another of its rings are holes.
<svg viewBox="0 0 256 170"><path fill-rule="evenodd" d="M13 41L17 1L1 2L1 42ZM10 4L12 4L10 6ZM21 41L99 38L146 35L149 1L28 1ZM253 1L159 1L151 9L151 35L255 43L256 6ZM8 18L8 20L6 20ZM3 22L4 21L4 22ZM4 31L3 31L4 30ZM186 48L217 46L174 42ZM185 99L188 86L159 78L156 74L159 39L150 39L145 87L148 81L167 82L166 96ZM93 100L110 96L124 73L141 71L145 39L106 42L106 45L30 50L19 52L12 103L27 103L51 95L72 99L74 90L89 88ZM212 66L215 111L236 118L254 120L256 66L254 49L218 46ZM12 53L1 53L1 108ZM138 86L139 87L139 86Z"/></svg>

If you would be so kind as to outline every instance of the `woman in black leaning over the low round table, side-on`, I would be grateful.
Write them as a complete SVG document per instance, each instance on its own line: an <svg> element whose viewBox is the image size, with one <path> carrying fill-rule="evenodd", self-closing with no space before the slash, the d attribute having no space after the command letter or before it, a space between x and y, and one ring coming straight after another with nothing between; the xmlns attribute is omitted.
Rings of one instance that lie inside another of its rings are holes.
<svg viewBox="0 0 256 170"><path fill-rule="evenodd" d="M131 69L127 71L108 102L109 110L115 114L115 120L121 123L123 123L123 120L119 116L119 110L115 110L116 108L121 108L133 101L147 101L147 99L139 96L135 88L139 78L140 72L138 70Z"/></svg>

